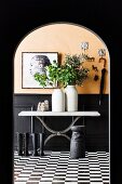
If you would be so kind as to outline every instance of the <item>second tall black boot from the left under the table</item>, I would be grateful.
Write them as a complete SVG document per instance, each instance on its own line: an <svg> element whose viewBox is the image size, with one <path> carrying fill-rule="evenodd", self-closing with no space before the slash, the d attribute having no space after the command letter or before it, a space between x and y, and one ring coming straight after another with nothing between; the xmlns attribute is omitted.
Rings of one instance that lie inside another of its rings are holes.
<svg viewBox="0 0 122 184"><path fill-rule="evenodd" d="M28 145L29 145L29 133L24 133L24 156L29 156Z"/></svg>

